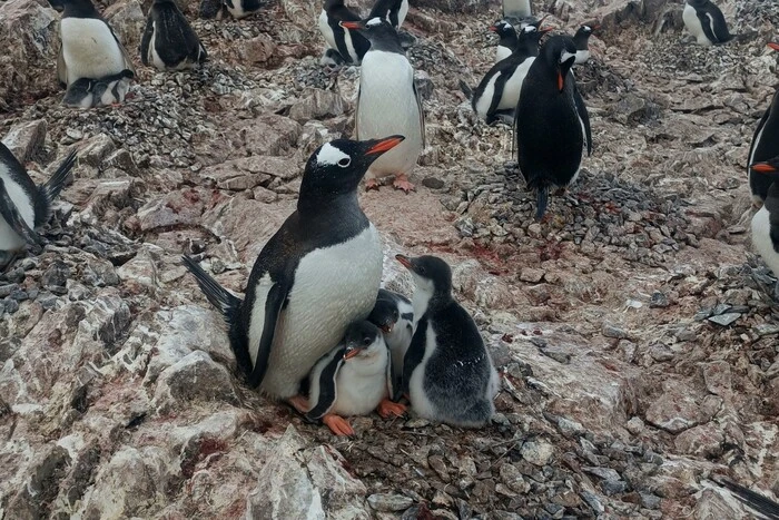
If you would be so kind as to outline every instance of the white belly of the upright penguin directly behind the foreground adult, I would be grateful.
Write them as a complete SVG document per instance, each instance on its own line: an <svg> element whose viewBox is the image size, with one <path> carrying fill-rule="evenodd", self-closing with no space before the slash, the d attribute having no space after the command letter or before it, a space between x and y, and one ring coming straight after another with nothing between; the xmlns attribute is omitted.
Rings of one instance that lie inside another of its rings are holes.
<svg viewBox="0 0 779 520"><path fill-rule="evenodd" d="M368 178L407 174L422 151L422 122L414 94L414 69L398 53L368 51L359 76L357 135L365 140L394 134L406 139L371 165Z"/></svg>

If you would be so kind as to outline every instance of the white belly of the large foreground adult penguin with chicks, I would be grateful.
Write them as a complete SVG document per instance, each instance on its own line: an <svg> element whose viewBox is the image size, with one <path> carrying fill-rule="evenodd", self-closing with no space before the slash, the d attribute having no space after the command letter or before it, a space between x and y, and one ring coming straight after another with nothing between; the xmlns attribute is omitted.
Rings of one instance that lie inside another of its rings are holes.
<svg viewBox="0 0 779 520"><path fill-rule="evenodd" d="M346 326L371 313L381 278L382 241L373 224L346 243L304 256L276 325L260 390L283 399L296 395L300 380L338 344ZM257 291L258 300L262 293ZM252 323L262 324L264 315L265 305L255 301ZM253 361L260 335L262 327L250 327Z"/></svg>

